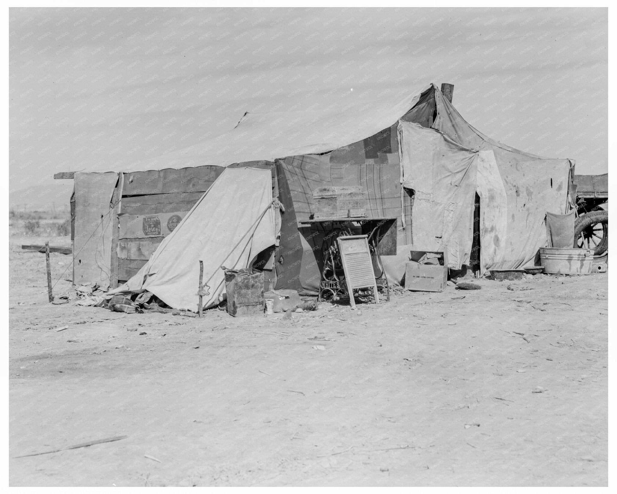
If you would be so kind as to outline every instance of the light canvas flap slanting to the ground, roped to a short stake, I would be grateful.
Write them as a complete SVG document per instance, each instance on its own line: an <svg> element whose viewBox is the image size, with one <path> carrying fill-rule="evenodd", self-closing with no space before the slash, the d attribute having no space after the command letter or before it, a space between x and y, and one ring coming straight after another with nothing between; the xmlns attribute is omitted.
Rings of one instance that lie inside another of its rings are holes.
<svg viewBox="0 0 617 494"><path fill-rule="evenodd" d="M163 240L138 274L118 287L145 288L176 309L196 311L199 261L209 295L204 308L225 299L228 269L249 267L263 249L275 245L275 214L270 170L226 169Z"/></svg>

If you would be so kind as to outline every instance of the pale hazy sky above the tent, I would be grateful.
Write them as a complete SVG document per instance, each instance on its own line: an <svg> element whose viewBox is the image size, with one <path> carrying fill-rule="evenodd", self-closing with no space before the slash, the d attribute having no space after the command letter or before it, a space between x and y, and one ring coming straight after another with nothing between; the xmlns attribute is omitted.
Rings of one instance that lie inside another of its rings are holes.
<svg viewBox="0 0 617 494"><path fill-rule="evenodd" d="M10 203L58 207L54 173L130 170L247 111L431 82L480 132L606 173L607 46L606 8L12 8Z"/></svg>

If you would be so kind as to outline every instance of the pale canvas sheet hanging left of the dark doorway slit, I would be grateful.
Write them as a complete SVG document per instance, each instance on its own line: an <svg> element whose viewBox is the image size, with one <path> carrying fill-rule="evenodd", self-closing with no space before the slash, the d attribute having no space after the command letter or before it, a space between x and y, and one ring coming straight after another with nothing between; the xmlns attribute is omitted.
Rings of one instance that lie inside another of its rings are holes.
<svg viewBox="0 0 617 494"><path fill-rule="evenodd" d="M415 191L413 246L447 250L448 266L468 264L473 235L476 153L447 136L399 123L402 184Z"/></svg>

